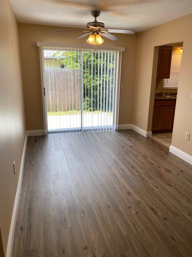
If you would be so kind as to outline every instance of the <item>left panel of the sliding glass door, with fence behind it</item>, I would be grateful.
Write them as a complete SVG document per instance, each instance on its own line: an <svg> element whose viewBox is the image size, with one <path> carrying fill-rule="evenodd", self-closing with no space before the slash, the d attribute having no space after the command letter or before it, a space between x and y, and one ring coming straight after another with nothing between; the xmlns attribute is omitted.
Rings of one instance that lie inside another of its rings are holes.
<svg viewBox="0 0 192 257"><path fill-rule="evenodd" d="M80 130L79 50L44 47L43 57L48 133Z"/></svg>

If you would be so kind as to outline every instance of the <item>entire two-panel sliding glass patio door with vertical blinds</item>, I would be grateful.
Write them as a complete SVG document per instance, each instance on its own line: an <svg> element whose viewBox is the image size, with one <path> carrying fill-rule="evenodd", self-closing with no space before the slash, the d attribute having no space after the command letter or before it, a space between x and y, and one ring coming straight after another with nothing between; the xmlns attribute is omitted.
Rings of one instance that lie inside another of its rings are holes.
<svg viewBox="0 0 192 257"><path fill-rule="evenodd" d="M115 127L118 57L117 51L42 47L48 133Z"/></svg>

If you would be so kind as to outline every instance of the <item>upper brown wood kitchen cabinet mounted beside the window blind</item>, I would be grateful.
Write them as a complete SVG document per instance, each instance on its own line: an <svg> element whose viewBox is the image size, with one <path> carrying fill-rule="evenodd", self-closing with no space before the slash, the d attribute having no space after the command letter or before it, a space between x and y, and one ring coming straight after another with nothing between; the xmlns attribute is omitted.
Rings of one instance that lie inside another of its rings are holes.
<svg viewBox="0 0 192 257"><path fill-rule="evenodd" d="M159 47L157 78L169 79L173 47Z"/></svg>

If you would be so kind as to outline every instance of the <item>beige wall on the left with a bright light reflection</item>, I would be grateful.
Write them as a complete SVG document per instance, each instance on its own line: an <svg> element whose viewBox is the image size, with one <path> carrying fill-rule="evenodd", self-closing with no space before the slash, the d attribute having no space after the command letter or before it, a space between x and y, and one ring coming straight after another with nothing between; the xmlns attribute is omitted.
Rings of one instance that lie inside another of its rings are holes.
<svg viewBox="0 0 192 257"><path fill-rule="evenodd" d="M0 1L0 17L0 227L6 255L26 131L17 22L8 0Z"/></svg>

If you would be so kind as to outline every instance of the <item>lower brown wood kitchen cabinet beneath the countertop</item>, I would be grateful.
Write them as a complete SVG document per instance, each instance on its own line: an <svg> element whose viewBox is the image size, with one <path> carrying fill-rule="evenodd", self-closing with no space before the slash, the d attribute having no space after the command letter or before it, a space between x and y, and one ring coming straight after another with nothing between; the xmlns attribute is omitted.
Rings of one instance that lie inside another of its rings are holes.
<svg viewBox="0 0 192 257"><path fill-rule="evenodd" d="M173 131L175 115L174 100L154 100L152 133L165 133Z"/></svg>

